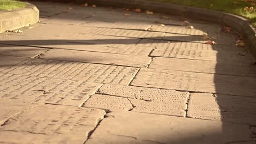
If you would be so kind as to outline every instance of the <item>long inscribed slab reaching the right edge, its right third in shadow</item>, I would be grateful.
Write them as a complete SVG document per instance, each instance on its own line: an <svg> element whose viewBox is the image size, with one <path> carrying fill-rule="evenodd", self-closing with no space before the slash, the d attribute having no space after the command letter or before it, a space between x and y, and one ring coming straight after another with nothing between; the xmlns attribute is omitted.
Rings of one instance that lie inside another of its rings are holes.
<svg viewBox="0 0 256 144"><path fill-rule="evenodd" d="M255 83L255 77L141 69L131 85L255 97Z"/></svg>

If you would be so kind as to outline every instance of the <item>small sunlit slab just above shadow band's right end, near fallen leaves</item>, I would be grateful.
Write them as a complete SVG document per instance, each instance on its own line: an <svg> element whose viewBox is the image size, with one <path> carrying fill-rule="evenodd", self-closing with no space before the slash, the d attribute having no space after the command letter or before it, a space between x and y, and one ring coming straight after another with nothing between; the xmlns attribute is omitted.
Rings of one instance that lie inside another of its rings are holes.
<svg viewBox="0 0 256 144"><path fill-rule="evenodd" d="M156 32L166 32L166 33L177 33L177 34L187 34L187 35L203 35L205 32L201 31L200 29L192 29L186 28L181 26L159 26L153 25L153 29L149 29L149 31L156 31Z"/></svg>

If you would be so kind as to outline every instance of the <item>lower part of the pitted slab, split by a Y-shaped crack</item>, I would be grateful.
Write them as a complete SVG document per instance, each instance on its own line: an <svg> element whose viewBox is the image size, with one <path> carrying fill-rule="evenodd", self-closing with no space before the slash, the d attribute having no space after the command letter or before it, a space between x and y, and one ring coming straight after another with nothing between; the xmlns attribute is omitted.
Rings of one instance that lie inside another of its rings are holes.
<svg viewBox="0 0 256 144"><path fill-rule="evenodd" d="M141 99L121 98L112 95L92 95L83 106L98 109L117 111L137 111L155 113L159 115L171 115L185 117L187 101L145 101Z"/></svg>

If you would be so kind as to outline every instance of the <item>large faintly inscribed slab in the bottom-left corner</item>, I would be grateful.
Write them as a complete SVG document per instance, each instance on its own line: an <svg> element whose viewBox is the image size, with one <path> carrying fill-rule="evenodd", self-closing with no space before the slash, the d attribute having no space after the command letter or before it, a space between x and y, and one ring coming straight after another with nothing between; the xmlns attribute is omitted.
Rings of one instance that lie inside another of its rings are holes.
<svg viewBox="0 0 256 144"><path fill-rule="evenodd" d="M84 143L104 115L97 109L39 105L2 125L0 139L4 143Z"/></svg>

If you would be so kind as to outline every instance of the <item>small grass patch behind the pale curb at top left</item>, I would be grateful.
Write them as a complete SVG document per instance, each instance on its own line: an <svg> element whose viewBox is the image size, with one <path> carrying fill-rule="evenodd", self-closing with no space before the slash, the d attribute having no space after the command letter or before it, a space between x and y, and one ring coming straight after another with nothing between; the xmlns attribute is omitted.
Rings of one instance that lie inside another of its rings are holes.
<svg viewBox="0 0 256 144"><path fill-rule="evenodd" d="M13 10L24 8L25 2L14 1L14 0L0 0L0 10Z"/></svg>

